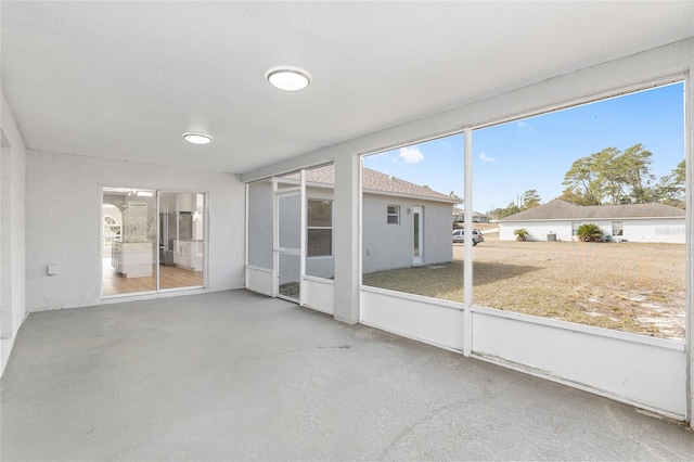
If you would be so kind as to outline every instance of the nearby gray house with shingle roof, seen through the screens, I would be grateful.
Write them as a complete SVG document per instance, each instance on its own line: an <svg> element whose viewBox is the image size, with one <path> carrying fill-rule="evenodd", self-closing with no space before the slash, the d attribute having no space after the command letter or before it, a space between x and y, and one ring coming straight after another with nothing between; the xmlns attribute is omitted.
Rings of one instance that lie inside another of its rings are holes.
<svg viewBox="0 0 694 462"><path fill-rule="evenodd" d="M308 275L334 275L334 177L332 165L306 170ZM284 178L296 181L298 175ZM458 200L369 168L362 182L364 273L452 260L450 220Z"/></svg>

